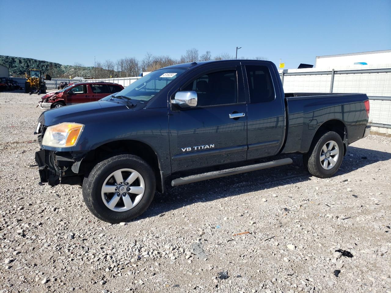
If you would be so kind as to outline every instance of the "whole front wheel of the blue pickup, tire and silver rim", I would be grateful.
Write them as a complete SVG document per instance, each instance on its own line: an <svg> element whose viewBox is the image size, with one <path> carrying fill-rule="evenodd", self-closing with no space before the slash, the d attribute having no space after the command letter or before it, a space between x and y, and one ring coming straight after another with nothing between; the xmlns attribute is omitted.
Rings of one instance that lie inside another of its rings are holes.
<svg viewBox="0 0 391 293"><path fill-rule="evenodd" d="M83 181L83 198L95 217L109 223L133 220L151 204L156 178L135 155L115 155L98 163Z"/></svg>

